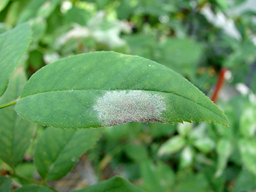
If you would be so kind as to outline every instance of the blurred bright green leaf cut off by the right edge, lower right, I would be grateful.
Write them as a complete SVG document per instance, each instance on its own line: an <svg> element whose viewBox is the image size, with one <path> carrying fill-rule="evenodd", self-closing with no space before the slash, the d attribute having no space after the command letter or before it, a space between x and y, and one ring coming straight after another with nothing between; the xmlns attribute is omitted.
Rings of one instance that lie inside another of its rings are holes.
<svg viewBox="0 0 256 192"><path fill-rule="evenodd" d="M243 163L256 175L256 141L240 139L238 142Z"/></svg>

